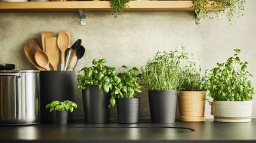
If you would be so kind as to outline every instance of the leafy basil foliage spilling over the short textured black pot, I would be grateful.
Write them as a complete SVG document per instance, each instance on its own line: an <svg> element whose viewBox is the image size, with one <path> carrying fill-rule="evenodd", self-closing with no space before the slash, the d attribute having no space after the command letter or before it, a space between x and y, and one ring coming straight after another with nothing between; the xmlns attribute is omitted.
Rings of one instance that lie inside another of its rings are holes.
<svg viewBox="0 0 256 143"><path fill-rule="evenodd" d="M122 66L125 69L124 72L118 73L121 82L115 83L113 91L111 93L110 104L112 107L116 103L116 98L134 98L135 95L140 91L141 85L137 82L141 78L141 74L137 74L139 71L137 67L128 69L127 66ZM110 106L110 105L109 105Z"/></svg>

